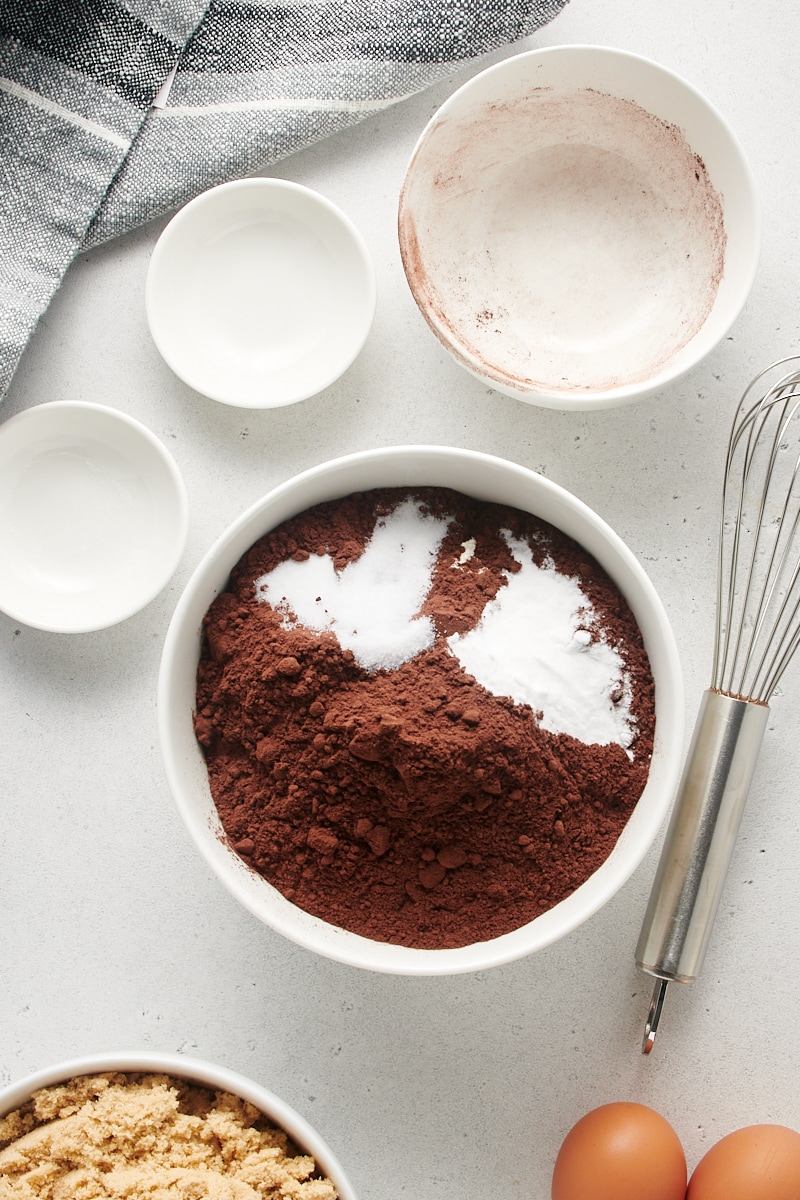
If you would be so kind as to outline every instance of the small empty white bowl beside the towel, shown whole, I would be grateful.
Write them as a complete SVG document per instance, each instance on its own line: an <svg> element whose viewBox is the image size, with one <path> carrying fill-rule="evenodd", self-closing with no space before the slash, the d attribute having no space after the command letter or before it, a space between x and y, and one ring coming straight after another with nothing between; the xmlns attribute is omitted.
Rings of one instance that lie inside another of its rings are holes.
<svg viewBox="0 0 800 1200"><path fill-rule="evenodd" d="M375 277L351 221L282 179L212 187L152 252L145 306L176 376L211 400L278 408L323 391L361 352Z"/></svg>

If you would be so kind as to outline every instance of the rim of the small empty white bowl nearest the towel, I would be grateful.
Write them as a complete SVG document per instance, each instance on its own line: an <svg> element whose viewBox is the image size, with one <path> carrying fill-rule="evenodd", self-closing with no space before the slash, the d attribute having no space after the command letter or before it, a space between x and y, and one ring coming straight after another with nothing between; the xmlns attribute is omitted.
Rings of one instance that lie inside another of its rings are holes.
<svg viewBox="0 0 800 1200"><path fill-rule="evenodd" d="M350 250L354 252L359 269L362 272L361 282L365 289L365 312L367 316L359 331L359 337L354 340L350 353L342 355L335 364L331 365L329 371L320 373L318 382L311 390L306 388L290 395L283 395L276 398L266 396L261 401L257 401L247 400L246 397L235 395L225 389L209 388L197 373L187 367L186 362L180 356L175 355L169 340L164 337L160 322L155 316L156 295L160 288L158 272L163 269L163 260L168 259L170 254L174 234L179 233L187 222L191 222L198 211L215 205L221 197L225 197L235 192L241 192L243 194L247 194L248 192L263 192L265 196L269 196L270 193L279 194L283 192L302 196L309 203L317 205L317 208L324 210L329 216L333 217L333 220L338 223L342 233L349 241ZM223 184L216 184L212 187L206 188L191 200L187 200L187 203L174 214L174 216L164 226L156 245L152 248L145 276L144 301L148 326L156 348L167 366L178 376L179 379L181 379L187 386L192 388L193 391L199 392L201 396L207 396L210 400L217 401L221 404L229 404L234 408L270 409L284 408L288 404L296 404L303 400L308 400L311 396L319 395L331 384L336 383L336 380L353 366L356 358L363 349L374 322L378 302L377 288L375 266L367 242L355 222L347 215L347 212L344 212L343 209L338 206L338 204L335 204L333 200L327 198L327 196L324 196L315 188L308 187L306 184L297 184L294 180L281 179L275 175L249 175L243 179L231 179Z"/></svg>

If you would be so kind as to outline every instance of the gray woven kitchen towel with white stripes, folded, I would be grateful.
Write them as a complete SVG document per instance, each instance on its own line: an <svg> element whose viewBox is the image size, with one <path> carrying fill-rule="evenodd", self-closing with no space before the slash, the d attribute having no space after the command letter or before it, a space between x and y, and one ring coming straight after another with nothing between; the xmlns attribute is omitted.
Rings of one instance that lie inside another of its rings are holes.
<svg viewBox="0 0 800 1200"><path fill-rule="evenodd" d="M82 248L527 37L566 2L0 0L0 396Z"/></svg>

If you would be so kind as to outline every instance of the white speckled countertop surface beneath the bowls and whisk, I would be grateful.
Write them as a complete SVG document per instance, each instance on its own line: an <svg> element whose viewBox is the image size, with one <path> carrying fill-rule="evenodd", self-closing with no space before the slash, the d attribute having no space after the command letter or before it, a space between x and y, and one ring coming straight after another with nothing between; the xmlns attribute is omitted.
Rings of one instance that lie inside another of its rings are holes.
<svg viewBox="0 0 800 1200"><path fill-rule="evenodd" d="M721 109L753 168L764 245L751 299L705 364L634 407L569 414L507 400L425 326L396 200L419 133L464 76L273 172L341 205L378 272L368 343L315 398L237 410L169 372L143 304L163 222L73 265L0 419L66 398L130 413L174 454L191 527L169 587L121 625L61 636L0 614L0 1084L101 1050L218 1062L299 1109L363 1200L547 1200L567 1128L612 1099L657 1108L690 1166L739 1126L800 1128L800 664L772 704L703 977L670 989L650 1057L639 1044L651 989L633 947L657 847L600 914L510 966L405 979L321 961L264 929L199 859L168 792L155 706L180 590L242 509L341 454L449 443L542 472L627 541L674 624L688 736L710 671L730 415L750 378L799 347L799 41L800 10L784 0L571 0L525 43L657 59Z"/></svg>

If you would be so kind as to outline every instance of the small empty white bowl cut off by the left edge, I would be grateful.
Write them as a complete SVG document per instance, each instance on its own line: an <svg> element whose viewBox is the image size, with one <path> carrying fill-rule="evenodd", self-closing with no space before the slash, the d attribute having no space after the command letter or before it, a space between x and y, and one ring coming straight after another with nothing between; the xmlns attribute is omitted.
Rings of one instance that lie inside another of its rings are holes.
<svg viewBox="0 0 800 1200"><path fill-rule="evenodd" d="M138 612L184 551L186 490L150 430L80 401L0 426L0 610L77 634Z"/></svg>

